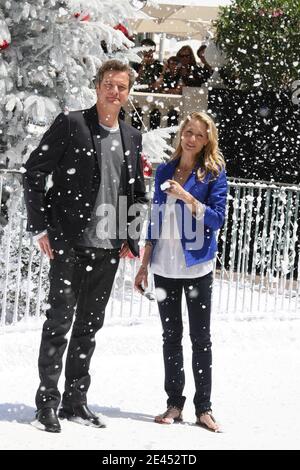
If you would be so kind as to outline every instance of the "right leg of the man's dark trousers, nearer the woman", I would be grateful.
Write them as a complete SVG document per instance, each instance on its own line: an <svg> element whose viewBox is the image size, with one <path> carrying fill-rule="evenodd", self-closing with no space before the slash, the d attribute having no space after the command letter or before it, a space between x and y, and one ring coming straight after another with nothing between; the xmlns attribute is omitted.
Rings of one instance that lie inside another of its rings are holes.
<svg viewBox="0 0 300 470"><path fill-rule="evenodd" d="M119 250L85 250L84 275L66 360L64 405L86 403L90 386L89 367L95 349L95 334L103 326Z"/></svg>

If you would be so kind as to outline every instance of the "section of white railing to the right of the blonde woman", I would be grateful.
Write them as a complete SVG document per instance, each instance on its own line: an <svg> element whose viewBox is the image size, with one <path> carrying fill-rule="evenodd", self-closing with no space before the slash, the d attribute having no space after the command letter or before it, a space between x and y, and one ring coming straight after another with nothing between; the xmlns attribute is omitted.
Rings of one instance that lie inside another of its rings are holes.
<svg viewBox="0 0 300 470"><path fill-rule="evenodd" d="M216 310L225 316L299 315L299 186L232 180L229 188Z"/></svg>

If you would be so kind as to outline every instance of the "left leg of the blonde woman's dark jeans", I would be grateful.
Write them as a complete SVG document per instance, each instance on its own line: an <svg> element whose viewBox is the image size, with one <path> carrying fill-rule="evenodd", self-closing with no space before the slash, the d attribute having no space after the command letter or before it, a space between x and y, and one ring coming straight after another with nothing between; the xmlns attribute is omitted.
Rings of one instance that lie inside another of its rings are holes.
<svg viewBox="0 0 300 470"><path fill-rule="evenodd" d="M156 289L162 289L158 293L161 300L158 300L163 328L163 357L165 366L165 391L168 395L167 405L183 408L185 397L183 389L185 385L185 375L183 369L182 352L182 280L169 279L154 274Z"/></svg>

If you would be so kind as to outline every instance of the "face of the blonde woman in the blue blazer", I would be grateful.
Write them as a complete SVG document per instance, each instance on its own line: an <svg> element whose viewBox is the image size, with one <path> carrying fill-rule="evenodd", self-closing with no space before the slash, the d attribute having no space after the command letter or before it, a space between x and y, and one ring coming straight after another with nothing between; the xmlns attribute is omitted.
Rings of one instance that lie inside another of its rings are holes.
<svg viewBox="0 0 300 470"><path fill-rule="evenodd" d="M181 134L182 151L191 156L198 155L208 143L207 126L204 122L191 119Z"/></svg>

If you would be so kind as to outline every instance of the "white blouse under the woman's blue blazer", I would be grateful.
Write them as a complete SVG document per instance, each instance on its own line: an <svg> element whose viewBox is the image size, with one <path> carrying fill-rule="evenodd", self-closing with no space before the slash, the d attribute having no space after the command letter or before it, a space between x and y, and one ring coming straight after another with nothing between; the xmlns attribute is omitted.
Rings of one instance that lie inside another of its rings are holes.
<svg viewBox="0 0 300 470"><path fill-rule="evenodd" d="M168 195L161 236L153 248L151 272L175 279L205 276L213 270L213 260L186 266L176 220L175 203L176 198Z"/></svg>

